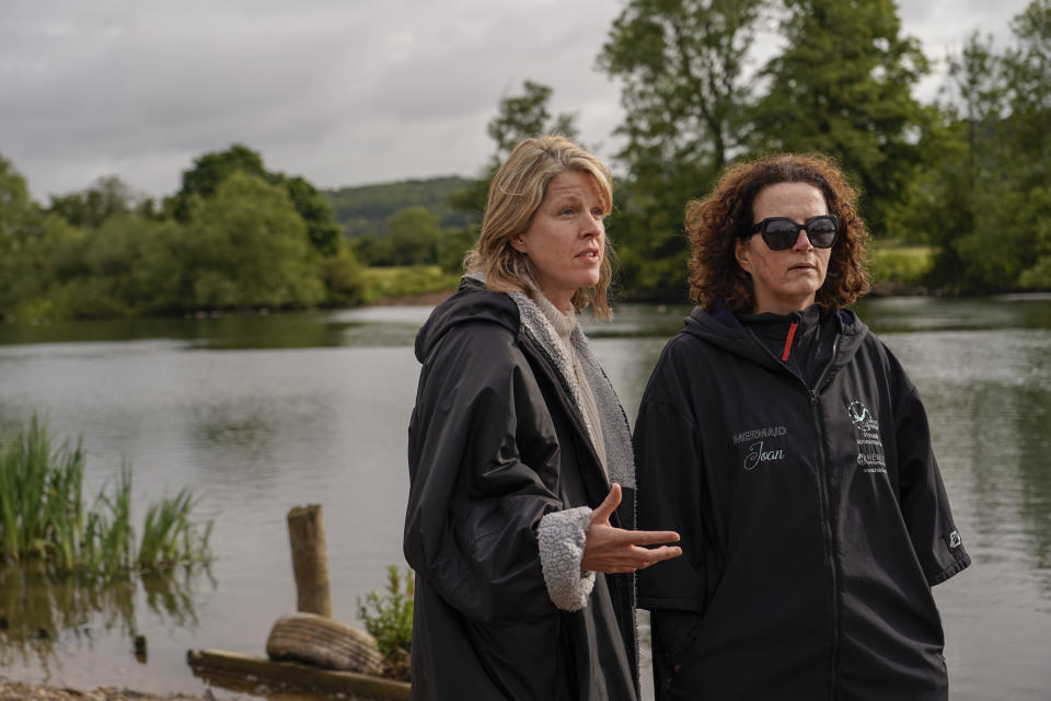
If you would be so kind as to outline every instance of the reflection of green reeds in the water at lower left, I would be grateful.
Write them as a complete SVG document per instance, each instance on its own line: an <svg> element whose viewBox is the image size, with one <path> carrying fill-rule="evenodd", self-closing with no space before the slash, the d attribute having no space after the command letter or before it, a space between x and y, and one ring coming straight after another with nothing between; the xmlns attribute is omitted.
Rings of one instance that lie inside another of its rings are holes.
<svg viewBox="0 0 1051 701"><path fill-rule="evenodd" d="M99 633L128 641L139 635L136 598L169 625L197 627L195 586L207 567L180 567L166 574L115 577L54 576L36 563L0 565L0 666L35 663L50 677L70 650L92 647ZM145 655L143 655L145 662Z"/></svg>

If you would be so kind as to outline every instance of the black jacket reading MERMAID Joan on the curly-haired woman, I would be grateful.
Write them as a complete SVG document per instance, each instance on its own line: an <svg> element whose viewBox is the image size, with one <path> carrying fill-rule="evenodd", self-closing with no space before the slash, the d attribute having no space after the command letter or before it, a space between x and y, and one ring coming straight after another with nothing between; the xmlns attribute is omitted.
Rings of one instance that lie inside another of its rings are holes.
<svg viewBox="0 0 1051 701"><path fill-rule="evenodd" d="M683 549L638 577L658 698L948 696L931 587L970 560L926 415L856 317L827 329L812 387L725 307L694 310L654 370L638 527Z"/></svg>

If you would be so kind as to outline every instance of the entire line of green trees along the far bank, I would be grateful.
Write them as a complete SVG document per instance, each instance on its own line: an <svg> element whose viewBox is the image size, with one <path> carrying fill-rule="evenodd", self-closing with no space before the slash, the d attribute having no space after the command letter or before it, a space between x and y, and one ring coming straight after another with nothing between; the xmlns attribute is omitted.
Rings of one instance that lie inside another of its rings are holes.
<svg viewBox="0 0 1051 701"><path fill-rule="evenodd" d="M913 93L931 61L892 0L626 2L597 57L625 115L608 223L621 298L684 301L683 206L726 165L777 151L835 158L877 245L932 252L917 281L1051 288L1051 0L1010 28L1004 49L972 34L923 104ZM777 51L758 62L771 43ZM160 203L109 177L45 207L0 156L0 314L343 306L367 298L369 265L457 271L515 143L548 131L581 140L551 96L526 81L500 101L477 179L393 195L323 193L234 145L196 159Z"/></svg>

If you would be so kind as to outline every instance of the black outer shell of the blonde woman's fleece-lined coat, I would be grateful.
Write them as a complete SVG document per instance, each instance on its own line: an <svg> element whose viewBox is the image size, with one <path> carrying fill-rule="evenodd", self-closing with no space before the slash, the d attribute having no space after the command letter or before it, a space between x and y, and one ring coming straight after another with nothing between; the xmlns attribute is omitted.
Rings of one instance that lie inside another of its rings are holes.
<svg viewBox="0 0 1051 701"><path fill-rule="evenodd" d="M464 278L420 330L416 356L404 539L416 572L413 698L635 699L633 579L598 574L575 612L545 588L540 519L593 508L610 484L515 301Z"/></svg>

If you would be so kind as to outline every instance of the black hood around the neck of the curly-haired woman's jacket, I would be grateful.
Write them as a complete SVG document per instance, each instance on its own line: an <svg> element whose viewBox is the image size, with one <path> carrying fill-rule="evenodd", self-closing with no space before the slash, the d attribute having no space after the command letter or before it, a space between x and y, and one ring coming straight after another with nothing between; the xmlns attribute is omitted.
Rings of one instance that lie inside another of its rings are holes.
<svg viewBox="0 0 1051 701"><path fill-rule="evenodd" d="M839 334L839 349L835 366L848 363L857 353L862 341L868 334L868 326L857 314L846 309L836 309L835 323ZM707 312L695 307L685 320L683 333L703 338L708 343L735 355L748 358L764 367L775 367L779 363L755 336L738 320L723 302Z"/></svg>

